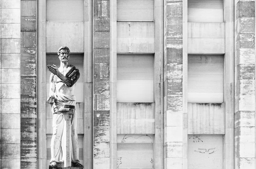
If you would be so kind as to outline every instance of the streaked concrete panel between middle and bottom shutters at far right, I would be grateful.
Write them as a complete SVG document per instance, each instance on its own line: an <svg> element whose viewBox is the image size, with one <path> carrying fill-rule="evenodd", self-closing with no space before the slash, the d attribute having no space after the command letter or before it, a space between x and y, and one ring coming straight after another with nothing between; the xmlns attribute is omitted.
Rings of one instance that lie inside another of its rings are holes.
<svg viewBox="0 0 256 169"><path fill-rule="evenodd" d="M188 103L188 134L224 134L224 117L224 103Z"/></svg>

